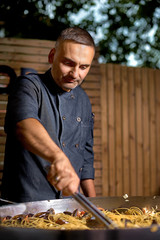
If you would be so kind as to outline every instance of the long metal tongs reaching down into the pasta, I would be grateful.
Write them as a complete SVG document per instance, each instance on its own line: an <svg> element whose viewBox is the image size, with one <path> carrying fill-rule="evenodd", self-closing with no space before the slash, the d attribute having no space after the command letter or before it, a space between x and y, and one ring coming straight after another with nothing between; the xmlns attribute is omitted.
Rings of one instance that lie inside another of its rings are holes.
<svg viewBox="0 0 160 240"><path fill-rule="evenodd" d="M109 217L105 216L91 201L89 201L80 192L76 192L72 196L86 210L88 210L90 213L92 213L92 215L99 222L101 222L105 227L110 228L110 229L118 228L118 226L115 222L113 222Z"/></svg>

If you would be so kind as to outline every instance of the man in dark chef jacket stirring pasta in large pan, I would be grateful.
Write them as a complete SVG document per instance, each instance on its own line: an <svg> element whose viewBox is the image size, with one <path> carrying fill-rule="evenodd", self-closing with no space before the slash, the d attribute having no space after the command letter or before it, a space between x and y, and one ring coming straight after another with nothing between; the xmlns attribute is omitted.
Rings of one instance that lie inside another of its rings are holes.
<svg viewBox="0 0 160 240"><path fill-rule="evenodd" d="M49 53L51 69L16 81L9 97L2 197L15 202L55 199L79 184L94 197L93 115L79 86L95 54L88 32L62 31Z"/></svg>

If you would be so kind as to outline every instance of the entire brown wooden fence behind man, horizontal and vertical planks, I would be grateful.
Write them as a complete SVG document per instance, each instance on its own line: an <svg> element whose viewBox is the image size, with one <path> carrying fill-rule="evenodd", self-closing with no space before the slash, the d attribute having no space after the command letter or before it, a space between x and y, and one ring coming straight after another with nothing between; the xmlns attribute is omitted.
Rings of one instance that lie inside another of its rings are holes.
<svg viewBox="0 0 160 240"><path fill-rule="evenodd" d="M46 71L52 41L0 39L0 65ZM82 87L95 113L97 196L160 195L160 70L98 64ZM0 84L8 84L0 76ZM7 94L0 95L0 170L3 171ZM0 176L1 179L1 176Z"/></svg>

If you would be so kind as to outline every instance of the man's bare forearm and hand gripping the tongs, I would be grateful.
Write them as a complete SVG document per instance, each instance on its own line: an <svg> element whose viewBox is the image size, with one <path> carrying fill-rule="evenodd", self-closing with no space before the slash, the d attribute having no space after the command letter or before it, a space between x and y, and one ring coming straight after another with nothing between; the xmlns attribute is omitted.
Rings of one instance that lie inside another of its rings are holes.
<svg viewBox="0 0 160 240"><path fill-rule="evenodd" d="M51 163L47 179L57 190L67 196L77 191L80 180L68 157L38 120L29 118L17 123L16 135L24 148Z"/></svg>

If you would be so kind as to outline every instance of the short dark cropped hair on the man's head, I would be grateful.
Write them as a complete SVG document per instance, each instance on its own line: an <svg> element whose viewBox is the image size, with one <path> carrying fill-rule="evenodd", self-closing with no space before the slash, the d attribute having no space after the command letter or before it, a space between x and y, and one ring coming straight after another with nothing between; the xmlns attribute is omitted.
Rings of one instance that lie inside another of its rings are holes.
<svg viewBox="0 0 160 240"><path fill-rule="evenodd" d="M86 30L79 27L70 27L64 29L60 33L56 41L55 47L57 47L60 42L64 42L66 40L71 40L76 43L91 46L95 49L95 43L91 35Z"/></svg>

